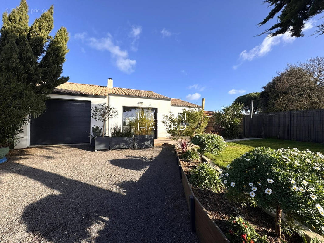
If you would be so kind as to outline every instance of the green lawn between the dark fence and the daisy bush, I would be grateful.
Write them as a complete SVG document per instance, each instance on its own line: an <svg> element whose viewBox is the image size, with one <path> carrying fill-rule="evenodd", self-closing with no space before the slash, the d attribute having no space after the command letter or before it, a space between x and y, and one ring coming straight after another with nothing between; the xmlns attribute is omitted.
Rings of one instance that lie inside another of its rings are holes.
<svg viewBox="0 0 324 243"><path fill-rule="evenodd" d="M324 145L318 143L308 143L308 142L296 142L290 140L272 139L272 138L262 138L255 140L243 140L237 142L226 143L227 147L219 155L205 154L208 158L213 160L213 162L220 168L225 168L228 163L233 159L245 154L249 150L256 147L270 147L272 149L277 148L298 148L299 150L309 149L313 152L320 152L324 154Z"/></svg>

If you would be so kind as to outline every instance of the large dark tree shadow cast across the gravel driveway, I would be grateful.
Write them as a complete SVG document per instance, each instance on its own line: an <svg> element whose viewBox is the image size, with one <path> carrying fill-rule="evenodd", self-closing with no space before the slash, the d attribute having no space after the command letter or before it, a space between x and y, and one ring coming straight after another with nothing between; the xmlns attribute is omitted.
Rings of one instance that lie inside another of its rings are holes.
<svg viewBox="0 0 324 243"><path fill-rule="evenodd" d="M138 181L121 183L127 192L123 195L16 162L7 164L11 172L60 193L25 207L22 222L27 231L69 243L198 242L190 232L188 207L170 148L164 147L153 159L130 156L112 164L148 168Z"/></svg>

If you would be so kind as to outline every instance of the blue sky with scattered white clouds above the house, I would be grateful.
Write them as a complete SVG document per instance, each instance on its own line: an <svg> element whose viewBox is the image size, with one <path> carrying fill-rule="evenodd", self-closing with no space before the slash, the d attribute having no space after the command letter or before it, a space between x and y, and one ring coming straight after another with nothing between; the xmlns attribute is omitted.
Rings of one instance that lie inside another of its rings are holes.
<svg viewBox="0 0 324 243"><path fill-rule="evenodd" d="M30 24L54 5L54 31L70 33L63 75L70 82L153 90L217 110L259 92L287 63L323 56L323 36L257 36L270 11L250 1L27 0ZM2 12L19 0L1 2ZM317 22L316 22L317 21Z"/></svg>

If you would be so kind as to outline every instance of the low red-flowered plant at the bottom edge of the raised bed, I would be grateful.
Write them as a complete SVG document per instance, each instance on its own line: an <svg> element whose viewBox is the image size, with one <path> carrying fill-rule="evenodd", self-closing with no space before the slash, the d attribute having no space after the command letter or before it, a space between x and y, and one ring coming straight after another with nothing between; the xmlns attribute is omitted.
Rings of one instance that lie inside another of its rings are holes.
<svg viewBox="0 0 324 243"><path fill-rule="evenodd" d="M268 243L267 236L262 237L255 232L255 229L241 217L231 216L227 223L229 230L226 237L232 243Z"/></svg>

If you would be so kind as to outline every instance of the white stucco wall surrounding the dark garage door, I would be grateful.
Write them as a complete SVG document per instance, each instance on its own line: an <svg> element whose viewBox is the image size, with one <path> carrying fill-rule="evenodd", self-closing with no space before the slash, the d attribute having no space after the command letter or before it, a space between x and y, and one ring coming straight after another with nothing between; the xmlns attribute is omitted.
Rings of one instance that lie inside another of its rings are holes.
<svg viewBox="0 0 324 243"><path fill-rule="evenodd" d="M74 95L56 95L56 94L50 94L49 97L53 99L69 99L69 100L89 100L91 101L91 107L99 104L105 104L106 103L106 97L103 98L97 98L97 97L87 97L87 96L74 96ZM89 131L92 131L92 126L98 125L102 127L102 122L95 121L91 119L91 126L89 127ZM26 148L30 145L30 122L27 124L27 126L23 127L23 133L20 133L21 139L19 140L19 143L17 143L17 146L15 148Z"/></svg>

